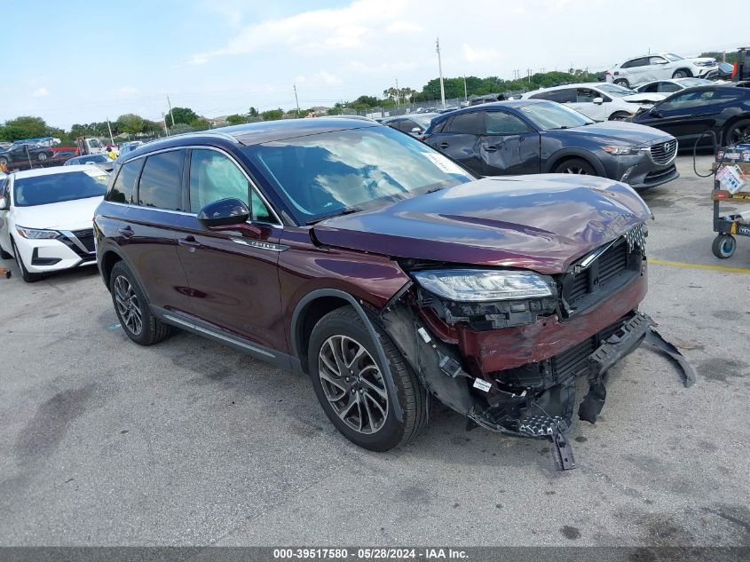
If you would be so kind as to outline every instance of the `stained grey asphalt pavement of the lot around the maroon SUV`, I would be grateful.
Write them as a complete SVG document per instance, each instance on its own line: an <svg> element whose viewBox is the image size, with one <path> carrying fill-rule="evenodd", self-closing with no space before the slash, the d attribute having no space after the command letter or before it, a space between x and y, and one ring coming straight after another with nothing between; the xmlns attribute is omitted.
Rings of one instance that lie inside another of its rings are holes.
<svg viewBox="0 0 750 562"><path fill-rule="evenodd" d="M642 310L698 382L622 360L573 471L437 406L367 452L304 376L186 333L138 347L95 267L27 284L0 260L0 545L749 545L750 238L716 259L711 180L678 167L643 194Z"/></svg>

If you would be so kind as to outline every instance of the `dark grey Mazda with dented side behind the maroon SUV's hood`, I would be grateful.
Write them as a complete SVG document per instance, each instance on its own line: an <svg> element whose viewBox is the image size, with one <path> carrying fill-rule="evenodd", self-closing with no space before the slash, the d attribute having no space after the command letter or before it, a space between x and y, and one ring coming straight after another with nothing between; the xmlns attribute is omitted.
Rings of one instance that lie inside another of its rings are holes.
<svg viewBox="0 0 750 562"><path fill-rule="evenodd" d="M679 177L677 141L670 135L632 123L595 123L541 99L498 101L438 116L422 139L481 176L570 173L635 188Z"/></svg>

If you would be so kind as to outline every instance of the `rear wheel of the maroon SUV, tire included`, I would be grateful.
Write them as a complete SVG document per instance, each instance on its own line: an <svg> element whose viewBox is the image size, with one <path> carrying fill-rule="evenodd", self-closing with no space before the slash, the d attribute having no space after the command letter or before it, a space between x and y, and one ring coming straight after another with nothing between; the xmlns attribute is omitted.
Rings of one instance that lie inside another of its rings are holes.
<svg viewBox="0 0 750 562"><path fill-rule="evenodd" d="M122 329L136 344L158 344L170 336L171 326L154 317L136 276L122 261L114 264L109 275L109 292Z"/></svg>

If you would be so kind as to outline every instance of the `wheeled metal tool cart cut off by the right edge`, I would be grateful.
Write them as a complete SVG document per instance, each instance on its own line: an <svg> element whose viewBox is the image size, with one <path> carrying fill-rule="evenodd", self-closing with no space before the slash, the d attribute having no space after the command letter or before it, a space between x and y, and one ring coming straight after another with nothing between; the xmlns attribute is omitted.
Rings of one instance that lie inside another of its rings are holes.
<svg viewBox="0 0 750 562"><path fill-rule="evenodd" d="M741 178L746 181L741 191L735 194L722 189L716 177L725 166L738 166L742 172ZM711 199L714 201L714 233L717 233L711 249L715 257L726 259L731 257L737 249L735 236L750 236L750 215L746 213L746 218L742 218L739 213L729 215L721 213L722 203L750 203L750 144L728 146L716 153L714 189Z"/></svg>

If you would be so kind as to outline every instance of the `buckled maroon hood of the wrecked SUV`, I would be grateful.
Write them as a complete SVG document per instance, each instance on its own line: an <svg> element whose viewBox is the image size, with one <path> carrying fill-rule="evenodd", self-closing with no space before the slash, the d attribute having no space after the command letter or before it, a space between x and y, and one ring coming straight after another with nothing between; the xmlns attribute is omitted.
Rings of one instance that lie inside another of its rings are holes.
<svg viewBox="0 0 750 562"><path fill-rule="evenodd" d="M606 178L483 178L313 226L322 244L392 257L562 273L651 216Z"/></svg>

